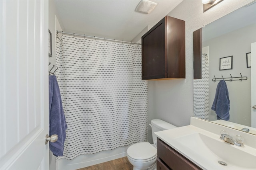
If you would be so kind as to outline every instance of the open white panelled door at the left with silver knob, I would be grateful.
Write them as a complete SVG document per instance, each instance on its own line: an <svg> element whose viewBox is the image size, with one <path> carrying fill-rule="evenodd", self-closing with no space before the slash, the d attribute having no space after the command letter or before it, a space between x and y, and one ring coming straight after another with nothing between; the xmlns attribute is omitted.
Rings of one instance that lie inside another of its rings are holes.
<svg viewBox="0 0 256 170"><path fill-rule="evenodd" d="M0 169L49 169L48 1L0 0Z"/></svg>

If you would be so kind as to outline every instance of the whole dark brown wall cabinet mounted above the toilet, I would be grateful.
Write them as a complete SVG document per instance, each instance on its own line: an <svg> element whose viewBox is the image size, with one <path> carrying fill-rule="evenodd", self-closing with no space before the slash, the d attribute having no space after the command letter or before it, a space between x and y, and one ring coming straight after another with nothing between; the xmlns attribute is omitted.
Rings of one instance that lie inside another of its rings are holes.
<svg viewBox="0 0 256 170"><path fill-rule="evenodd" d="M185 78L185 21L164 17L142 36L142 80Z"/></svg>

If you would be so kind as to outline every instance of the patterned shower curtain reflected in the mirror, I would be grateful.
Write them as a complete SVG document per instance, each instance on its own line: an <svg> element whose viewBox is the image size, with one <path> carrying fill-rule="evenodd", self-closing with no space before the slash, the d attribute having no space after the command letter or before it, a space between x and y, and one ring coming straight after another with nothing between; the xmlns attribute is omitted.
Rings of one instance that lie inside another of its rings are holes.
<svg viewBox="0 0 256 170"><path fill-rule="evenodd" d="M202 79L194 80L194 117L209 120L209 59L202 55Z"/></svg>

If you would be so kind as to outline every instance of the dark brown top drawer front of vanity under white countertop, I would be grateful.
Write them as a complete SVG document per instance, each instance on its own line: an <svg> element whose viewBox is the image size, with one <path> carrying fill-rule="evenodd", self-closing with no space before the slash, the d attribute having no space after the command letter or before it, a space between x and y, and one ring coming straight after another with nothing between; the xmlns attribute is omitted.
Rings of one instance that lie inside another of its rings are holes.
<svg viewBox="0 0 256 170"><path fill-rule="evenodd" d="M157 155L172 170L202 170L159 138L157 138Z"/></svg>

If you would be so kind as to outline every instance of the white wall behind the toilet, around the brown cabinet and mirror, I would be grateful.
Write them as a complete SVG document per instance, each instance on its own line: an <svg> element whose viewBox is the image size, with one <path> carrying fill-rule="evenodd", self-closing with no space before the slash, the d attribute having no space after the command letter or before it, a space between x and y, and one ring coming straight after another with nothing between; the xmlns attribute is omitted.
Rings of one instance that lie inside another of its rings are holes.
<svg viewBox="0 0 256 170"><path fill-rule="evenodd" d="M252 0L224 0L203 13L201 0L184 0L168 16L185 21L186 79L153 82L154 118L163 119L178 127L189 125L193 116L193 31L252 2Z"/></svg>

